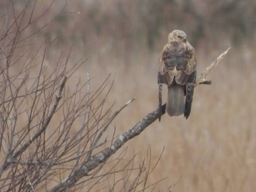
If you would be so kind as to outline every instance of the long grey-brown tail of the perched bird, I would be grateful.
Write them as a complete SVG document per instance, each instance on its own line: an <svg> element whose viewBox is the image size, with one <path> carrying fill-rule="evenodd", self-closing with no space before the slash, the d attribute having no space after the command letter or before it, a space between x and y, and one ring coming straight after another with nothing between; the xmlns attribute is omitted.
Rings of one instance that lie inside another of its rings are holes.
<svg viewBox="0 0 256 192"><path fill-rule="evenodd" d="M166 112L170 116L179 116L184 114L184 85L168 86L168 96Z"/></svg>

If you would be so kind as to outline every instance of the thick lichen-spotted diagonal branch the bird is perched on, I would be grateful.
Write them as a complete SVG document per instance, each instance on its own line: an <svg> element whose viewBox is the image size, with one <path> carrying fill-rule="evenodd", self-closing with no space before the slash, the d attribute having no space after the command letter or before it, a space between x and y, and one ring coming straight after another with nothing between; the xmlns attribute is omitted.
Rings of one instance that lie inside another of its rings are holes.
<svg viewBox="0 0 256 192"><path fill-rule="evenodd" d="M210 66L207 67L207 69L198 77L195 86L199 84L209 84L208 80L206 80L206 76L214 69L217 64L219 64L219 61L227 54L228 48L224 53L219 55L219 57L211 63ZM165 107L166 104L162 106L162 115L165 114ZM136 136L138 136L145 128L147 128L151 123L153 123L155 120L159 118L159 111L155 110L154 112L150 112L148 115L146 115L145 118L140 120L133 128L126 131L124 134L121 134L121 136L116 139L115 142L110 147L105 148L105 150L100 151L96 155L94 155L89 161L86 161L85 164L82 164L78 169L75 169L72 174L69 175L69 177L65 178L64 180L59 183L59 185L56 185L54 188L50 189L50 192L53 191L66 191L67 188L71 188L75 185L75 183L78 182L82 177L86 177L91 170L97 168L99 164L104 163L108 160L108 158L113 155L113 153L116 153L116 151L124 145L129 139L132 139Z"/></svg>

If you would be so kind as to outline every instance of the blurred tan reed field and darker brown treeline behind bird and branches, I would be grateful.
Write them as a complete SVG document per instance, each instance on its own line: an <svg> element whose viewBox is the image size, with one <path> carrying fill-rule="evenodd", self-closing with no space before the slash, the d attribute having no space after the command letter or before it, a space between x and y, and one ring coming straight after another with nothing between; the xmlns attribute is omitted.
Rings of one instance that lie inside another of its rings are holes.
<svg viewBox="0 0 256 192"><path fill-rule="evenodd" d="M212 85L196 88L188 120L163 116L76 190L254 191L256 4L214 2L1 1L1 190L10 183L17 191L50 190L157 110L159 52L180 28L197 50L199 72L232 47L211 73ZM100 127L134 97L93 146ZM44 126L18 159L7 161Z"/></svg>

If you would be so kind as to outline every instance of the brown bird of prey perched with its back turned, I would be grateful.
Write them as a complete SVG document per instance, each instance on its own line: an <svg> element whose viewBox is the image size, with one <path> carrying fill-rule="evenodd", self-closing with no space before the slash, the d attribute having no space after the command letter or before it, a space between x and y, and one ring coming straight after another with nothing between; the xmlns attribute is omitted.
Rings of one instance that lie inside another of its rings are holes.
<svg viewBox="0 0 256 192"><path fill-rule="evenodd" d="M195 49L184 31L174 30L159 59L159 120L162 115L162 84L167 85L166 112L170 116L189 117L196 79Z"/></svg>

